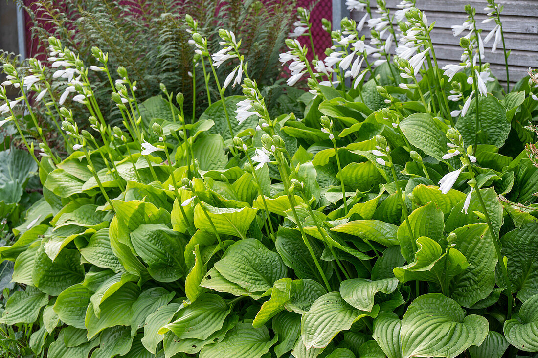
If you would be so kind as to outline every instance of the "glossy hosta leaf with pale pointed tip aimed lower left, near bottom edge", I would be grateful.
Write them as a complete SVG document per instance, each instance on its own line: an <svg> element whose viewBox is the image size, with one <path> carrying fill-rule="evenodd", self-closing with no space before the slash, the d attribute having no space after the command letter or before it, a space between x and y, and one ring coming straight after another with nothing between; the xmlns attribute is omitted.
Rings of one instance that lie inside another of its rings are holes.
<svg viewBox="0 0 538 358"><path fill-rule="evenodd" d="M176 320L159 330L160 334L172 331L180 339L207 339L222 328L231 307L216 294L204 293L192 304L179 310Z"/></svg>

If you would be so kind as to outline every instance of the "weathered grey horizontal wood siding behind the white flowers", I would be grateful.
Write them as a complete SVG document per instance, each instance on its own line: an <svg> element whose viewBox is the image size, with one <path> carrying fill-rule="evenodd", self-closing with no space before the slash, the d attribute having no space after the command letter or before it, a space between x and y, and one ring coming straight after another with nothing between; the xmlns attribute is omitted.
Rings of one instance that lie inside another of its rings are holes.
<svg viewBox="0 0 538 358"><path fill-rule="evenodd" d="M399 0L387 0L391 12L398 10ZM502 29L505 32L506 47L512 50L508 58L510 65L510 82L515 83L527 74L527 68L538 68L538 0L497 0L504 5L501 13ZM376 8L376 1L371 0L372 9ZM470 4L477 10L477 25L483 29L482 38L493 29L495 22L480 23L486 18L484 8L486 0L417 0L417 8L426 11L430 24L435 21L435 29L431 38L435 46L435 54L440 60L440 66L449 63L458 63L462 54L459 47L459 37L452 36L451 25L461 25L466 19L463 10ZM364 13L353 11L351 18L359 20ZM373 15L373 13L372 13ZM376 14L377 15L377 14ZM373 15L374 16L374 15ZM466 32L464 32L465 34ZM368 31L365 31L369 37ZM462 35L463 36L463 35ZM501 81L506 82L505 61L502 46L497 53L491 53L493 39L485 44L485 61L490 62L491 70ZM394 51L394 47L392 49Z"/></svg>

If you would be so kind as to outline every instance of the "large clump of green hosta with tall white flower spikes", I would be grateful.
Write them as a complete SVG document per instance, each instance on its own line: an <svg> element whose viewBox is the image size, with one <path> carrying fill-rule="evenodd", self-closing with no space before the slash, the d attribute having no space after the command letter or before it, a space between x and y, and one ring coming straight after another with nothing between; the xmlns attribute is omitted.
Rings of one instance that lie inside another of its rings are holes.
<svg viewBox="0 0 538 358"><path fill-rule="evenodd" d="M94 48L88 69L51 38L52 66L89 129L57 106L69 155L29 146L44 196L0 248L24 287L0 322L33 324L30 345L48 357L538 351L538 172L524 148L537 87L525 78L504 92L473 36L461 64L439 68L427 16L408 1L395 16L378 7L370 44L358 33L368 13L331 32L324 60L287 41L288 85L306 79L309 90L289 88L278 108L251 79L241 40L221 30L211 53L187 17L211 71L232 68L198 118L165 85L139 103L135 79L119 68L115 80L106 53ZM308 36L308 12L299 17L291 34ZM44 84L5 69L20 101ZM107 125L88 71L110 79L123 128ZM243 95L224 97L228 86Z"/></svg>

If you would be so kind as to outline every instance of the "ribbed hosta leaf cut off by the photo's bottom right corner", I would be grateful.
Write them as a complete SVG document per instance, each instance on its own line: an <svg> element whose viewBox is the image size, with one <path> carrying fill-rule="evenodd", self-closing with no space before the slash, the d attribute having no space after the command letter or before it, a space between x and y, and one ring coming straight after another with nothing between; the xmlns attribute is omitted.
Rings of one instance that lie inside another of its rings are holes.
<svg viewBox="0 0 538 358"><path fill-rule="evenodd" d="M519 319L505 321L503 331L511 345L525 352L538 352L538 294L523 302Z"/></svg>

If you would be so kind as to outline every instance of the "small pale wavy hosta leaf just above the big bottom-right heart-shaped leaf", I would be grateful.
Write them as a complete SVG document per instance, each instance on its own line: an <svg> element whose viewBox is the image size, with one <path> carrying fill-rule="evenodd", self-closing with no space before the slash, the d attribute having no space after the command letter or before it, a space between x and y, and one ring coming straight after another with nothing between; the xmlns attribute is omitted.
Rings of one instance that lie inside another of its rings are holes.
<svg viewBox="0 0 538 358"><path fill-rule="evenodd" d="M371 312L376 293L392 293L398 287L398 279L387 278L371 281L364 278L344 280L340 284L342 298L351 306L361 311Z"/></svg>

